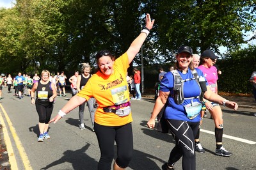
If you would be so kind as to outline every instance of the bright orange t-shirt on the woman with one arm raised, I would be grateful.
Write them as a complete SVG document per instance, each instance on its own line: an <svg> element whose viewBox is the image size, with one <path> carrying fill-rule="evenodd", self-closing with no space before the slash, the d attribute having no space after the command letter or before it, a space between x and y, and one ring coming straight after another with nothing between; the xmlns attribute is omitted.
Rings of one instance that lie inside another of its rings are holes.
<svg viewBox="0 0 256 170"><path fill-rule="evenodd" d="M114 72L108 77L101 72L95 73L77 94L88 100L94 97L98 108L95 111L95 122L104 126L121 126L132 121L132 114L120 117L113 112L104 112L103 108L111 105L120 105L128 102L129 88L126 81L126 72L129 68L127 53L116 59L113 65Z"/></svg>

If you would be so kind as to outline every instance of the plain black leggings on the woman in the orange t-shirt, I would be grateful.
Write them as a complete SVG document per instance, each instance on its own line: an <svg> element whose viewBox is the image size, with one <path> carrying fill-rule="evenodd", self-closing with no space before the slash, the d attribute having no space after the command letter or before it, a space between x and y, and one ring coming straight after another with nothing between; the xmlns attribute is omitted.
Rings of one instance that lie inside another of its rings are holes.
<svg viewBox="0 0 256 170"><path fill-rule="evenodd" d="M115 141L117 148L116 164L122 168L127 167L131 161L133 150L131 123L118 127L107 127L94 123L94 129L100 147L98 169L111 169L112 160L115 155Z"/></svg>

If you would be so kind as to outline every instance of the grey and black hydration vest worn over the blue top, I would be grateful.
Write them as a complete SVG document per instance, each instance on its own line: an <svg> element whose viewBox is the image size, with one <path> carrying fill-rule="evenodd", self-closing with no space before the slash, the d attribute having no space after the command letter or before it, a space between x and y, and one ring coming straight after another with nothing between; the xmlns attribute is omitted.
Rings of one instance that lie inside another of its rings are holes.
<svg viewBox="0 0 256 170"><path fill-rule="evenodd" d="M178 70L172 70L171 71L174 77L174 86L173 86L173 95L172 97L174 98L175 104L182 104L184 102L184 99L191 99L191 98L184 98L184 82L186 81L191 81L191 80L195 80L196 83L198 84L198 86L200 87L200 95L197 97L193 97L193 98L200 98L200 101L202 101L202 98L204 97L204 93L202 93L202 89L201 86L199 84L199 76L198 73L196 72L196 69L194 69L192 71L193 73L193 78L190 79L185 79L183 80L182 77L180 76L180 73L178 72ZM193 99L192 98L192 99Z"/></svg>

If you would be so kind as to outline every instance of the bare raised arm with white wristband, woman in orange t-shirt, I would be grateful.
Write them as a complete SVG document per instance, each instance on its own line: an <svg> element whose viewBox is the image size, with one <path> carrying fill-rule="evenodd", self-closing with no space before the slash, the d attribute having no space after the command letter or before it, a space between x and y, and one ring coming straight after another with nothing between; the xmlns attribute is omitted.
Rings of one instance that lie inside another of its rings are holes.
<svg viewBox="0 0 256 170"><path fill-rule="evenodd" d="M129 63L135 58L136 54L140 51L141 46L146 40L150 29L152 29L155 20L151 20L149 13L146 15L146 27L143 29L137 38L131 43L129 49L127 50Z"/></svg>

